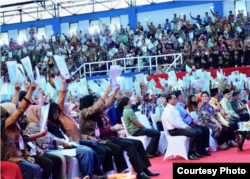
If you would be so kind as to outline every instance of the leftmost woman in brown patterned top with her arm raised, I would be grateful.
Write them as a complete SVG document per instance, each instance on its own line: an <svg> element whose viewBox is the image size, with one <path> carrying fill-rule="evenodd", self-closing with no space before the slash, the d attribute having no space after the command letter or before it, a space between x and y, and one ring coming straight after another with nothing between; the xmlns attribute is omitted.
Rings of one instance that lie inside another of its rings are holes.
<svg viewBox="0 0 250 179"><path fill-rule="evenodd" d="M36 135L24 136L18 124L19 119L31 103L30 99L35 89L36 84L32 82L29 91L20 103L18 109L15 110L15 104L18 101L20 92L20 85L15 84L15 95L12 99L12 103L14 104L1 104L0 106L0 156L5 161L19 165L24 179L41 179L41 168L34 163L34 158L28 155L25 142L44 136L46 132L41 131Z"/></svg>

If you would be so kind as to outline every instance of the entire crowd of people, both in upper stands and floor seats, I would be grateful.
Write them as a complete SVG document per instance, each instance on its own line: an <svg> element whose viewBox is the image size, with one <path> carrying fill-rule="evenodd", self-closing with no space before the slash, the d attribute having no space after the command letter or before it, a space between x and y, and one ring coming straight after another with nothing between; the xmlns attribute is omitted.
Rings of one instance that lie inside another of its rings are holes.
<svg viewBox="0 0 250 179"><path fill-rule="evenodd" d="M169 53L183 53L184 64L193 70L249 65L249 17L245 18L242 12L237 16L230 12L222 19L217 12L211 10L211 13L213 18L206 13L203 19L190 14L197 21L195 24L190 24L185 15L177 17L174 14L164 27L147 22L147 29L138 23L135 30L128 25L111 32L103 24L104 30L93 35L80 31L72 36L57 34L48 39L37 39L31 27L27 42L18 45L12 39L9 46L1 47L3 82L9 82L4 62L16 60L20 63L25 56L30 57L33 69L37 66L52 86L53 79L60 74L53 55L65 55L70 72L86 62ZM157 73L165 73L161 65L173 61L157 57L154 63L156 60ZM126 63L134 66L148 62L142 58ZM174 70L184 71L184 64L178 62ZM106 65L93 65L93 68L105 70ZM237 146L234 131L239 128L238 123L250 119L247 110L249 85L244 82L240 87L224 76L216 87L211 82L203 91L190 83L188 88L179 90L169 85L164 89L166 92L156 95L152 89L149 93L145 83L140 83L139 92L138 88L124 91L116 85L113 89L107 86L104 93L98 94L89 86L89 95L81 97L67 93L68 83L80 81L77 74L68 81L63 76L60 78L61 85L54 98L45 95L42 88L30 81L22 84L22 90L16 82L11 99L1 101L0 175L16 179L49 179L51 176L71 179L73 157L76 157L83 178L107 178L114 165L118 173L127 172L123 153L126 151L136 177L149 179L159 175L149 170L149 158L162 155L158 151L160 131L189 137L188 158L198 160L211 155L208 150L210 130L218 147L227 150ZM38 96L34 95L37 88ZM49 106L47 116L45 106ZM137 111L147 117L152 127L145 127L135 114ZM156 114L156 128L152 125L152 114ZM41 122L44 116L45 127ZM140 140L128 139L124 128L132 136L150 137L148 146L144 148ZM60 153L66 149L74 149L75 155Z"/></svg>

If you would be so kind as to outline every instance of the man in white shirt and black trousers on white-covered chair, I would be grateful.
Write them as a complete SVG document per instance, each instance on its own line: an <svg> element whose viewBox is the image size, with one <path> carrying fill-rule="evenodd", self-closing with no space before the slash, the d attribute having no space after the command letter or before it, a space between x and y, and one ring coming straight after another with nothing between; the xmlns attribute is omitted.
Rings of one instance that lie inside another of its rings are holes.
<svg viewBox="0 0 250 179"><path fill-rule="evenodd" d="M188 158L191 160L200 159L196 155L196 143L200 143L202 133L192 129L191 126L183 122L180 112L175 107L177 98L174 93L168 94L166 99L168 104L161 117L162 122L166 124L167 130L171 136L189 137Z"/></svg>

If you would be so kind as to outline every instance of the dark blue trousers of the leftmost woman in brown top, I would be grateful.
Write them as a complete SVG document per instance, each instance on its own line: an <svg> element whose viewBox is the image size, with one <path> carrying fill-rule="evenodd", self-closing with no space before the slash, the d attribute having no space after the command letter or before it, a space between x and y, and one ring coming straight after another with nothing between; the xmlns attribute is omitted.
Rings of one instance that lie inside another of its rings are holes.
<svg viewBox="0 0 250 179"><path fill-rule="evenodd" d="M19 165L23 179L41 179L41 168L36 163L31 163L28 160L23 159L17 163Z"/></svg>

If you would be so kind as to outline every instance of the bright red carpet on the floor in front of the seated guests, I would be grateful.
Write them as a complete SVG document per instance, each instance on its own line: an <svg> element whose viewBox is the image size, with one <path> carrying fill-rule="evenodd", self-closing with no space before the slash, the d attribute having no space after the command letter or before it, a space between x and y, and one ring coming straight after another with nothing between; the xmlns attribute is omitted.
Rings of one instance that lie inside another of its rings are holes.
<svg viewBox="0 0 250 179"><path fill-rule="evenodd" d="M152 179L172 179L173 178L173 163L249 163L250 162L250 141L245 141L243 151L238 152L237 147L232 147L226 151L218 150L213 152L211 156L204 157L200 160L188 160L177 156L174 159L168 158L163 161L163 157L151 159L152 166L150 170L159 172L157 177Z"/></svg>

